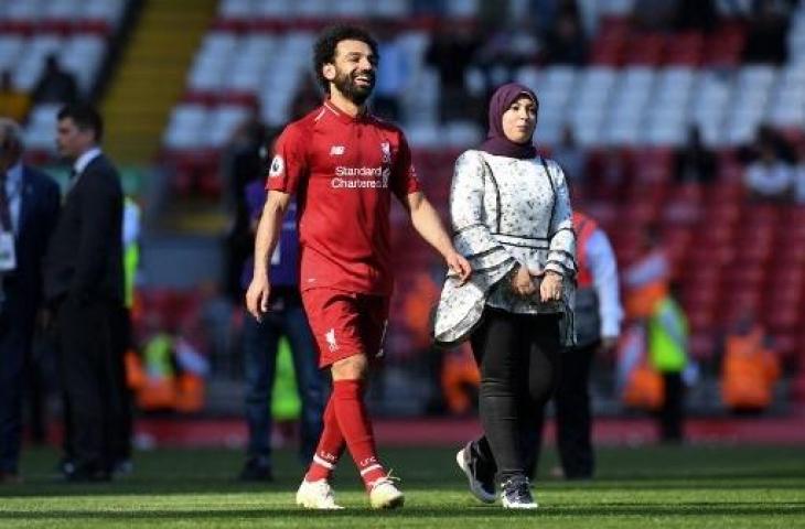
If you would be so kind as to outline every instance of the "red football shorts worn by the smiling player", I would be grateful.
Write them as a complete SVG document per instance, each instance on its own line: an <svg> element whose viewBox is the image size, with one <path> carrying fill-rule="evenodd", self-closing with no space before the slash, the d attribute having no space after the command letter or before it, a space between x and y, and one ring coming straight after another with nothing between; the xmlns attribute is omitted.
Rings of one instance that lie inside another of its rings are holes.
<svg viewBox="0 0 805 529"><path fill-rule="evenodd" d="M383 356L388 296L310 289L302 292L302 303L319 346L319 367L357 354Z"/></svg>

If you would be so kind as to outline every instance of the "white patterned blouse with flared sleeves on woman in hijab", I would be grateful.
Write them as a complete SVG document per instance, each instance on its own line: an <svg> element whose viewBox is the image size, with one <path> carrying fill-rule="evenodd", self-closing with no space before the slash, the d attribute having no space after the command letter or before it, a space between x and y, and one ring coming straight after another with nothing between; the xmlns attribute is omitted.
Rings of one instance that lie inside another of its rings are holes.
<svg viewBox="0 0 805 529"><path fill-rule="evenodd" d="M473 267L470 283L448 278L434 337L449 343L480 321L484 306L519 314L562 313L564 342L573 342L576 236L565 174L552 160L518 160L470 150L455 162L450 196L455 249ZM533 276L564 278L562 300L522 298L507 280L515 264Z"/></svg>

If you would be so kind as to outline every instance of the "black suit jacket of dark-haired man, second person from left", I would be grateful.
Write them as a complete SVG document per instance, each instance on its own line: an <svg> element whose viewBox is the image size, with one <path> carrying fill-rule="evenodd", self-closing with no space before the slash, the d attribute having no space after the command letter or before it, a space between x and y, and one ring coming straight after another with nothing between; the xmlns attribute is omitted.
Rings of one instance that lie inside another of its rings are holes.
<svg viewBox="0 0 805 529"><path fill-rule="evenodd" d="M76 176L44 262L45 299L124 301L122 207L117 169L104 155Z"/></svg>

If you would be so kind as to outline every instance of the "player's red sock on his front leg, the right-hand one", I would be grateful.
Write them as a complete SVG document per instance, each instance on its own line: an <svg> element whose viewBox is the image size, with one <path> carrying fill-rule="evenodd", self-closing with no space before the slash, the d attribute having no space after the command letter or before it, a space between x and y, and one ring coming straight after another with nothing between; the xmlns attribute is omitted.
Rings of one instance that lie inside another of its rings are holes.
<svg viewBox="0 0 805 529"><path fill-rule="evenodd" d="M361 478L366 488L386 475L386 471L377 458L375 438L372 424L363 401L363 382L361 380L335 380L330 400L334 403L335 417L346 446L355 461Z"/></svg>

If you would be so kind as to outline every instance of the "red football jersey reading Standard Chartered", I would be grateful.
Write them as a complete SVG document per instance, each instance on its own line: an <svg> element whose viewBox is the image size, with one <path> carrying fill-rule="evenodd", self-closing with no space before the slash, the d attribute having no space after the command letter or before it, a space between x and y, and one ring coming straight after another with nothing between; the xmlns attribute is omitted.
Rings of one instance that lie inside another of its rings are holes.
<svg viewBox="0 0 805 529"><path fill-rule="evenodd" d="M401 130L325 101L282 131L266 187L298 195L301 290L390 294L391 193L419 191Z"/></svg>

